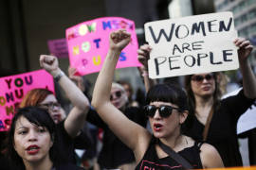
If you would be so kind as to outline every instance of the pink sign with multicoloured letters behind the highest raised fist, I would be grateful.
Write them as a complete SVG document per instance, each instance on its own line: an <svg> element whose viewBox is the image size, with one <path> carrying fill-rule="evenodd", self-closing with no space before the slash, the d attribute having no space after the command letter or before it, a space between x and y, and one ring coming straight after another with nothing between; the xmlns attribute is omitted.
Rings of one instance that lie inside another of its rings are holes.
<svg viewBox="0 0 256 170"><path fill-rule="evenodd" d="M103 17L66 29L71 67L77 68L79 75L99 72L108 51L109 35L120 28L131 33L132 41L121 52L117 68L140 66L135 23L120 17Z"/></svg>

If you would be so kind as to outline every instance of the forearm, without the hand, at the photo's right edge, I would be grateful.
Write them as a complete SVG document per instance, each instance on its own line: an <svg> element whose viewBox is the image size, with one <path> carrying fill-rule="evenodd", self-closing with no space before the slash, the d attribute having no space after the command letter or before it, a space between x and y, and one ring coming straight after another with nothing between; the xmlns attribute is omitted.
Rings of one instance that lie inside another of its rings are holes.
<svg viewBox="0 0 256 170"><path fill-rule="evenodd" d="M240 64L241 73L243 75L244 93L248 98L256 98L256 78L250 68L248 60Z"/></svg>

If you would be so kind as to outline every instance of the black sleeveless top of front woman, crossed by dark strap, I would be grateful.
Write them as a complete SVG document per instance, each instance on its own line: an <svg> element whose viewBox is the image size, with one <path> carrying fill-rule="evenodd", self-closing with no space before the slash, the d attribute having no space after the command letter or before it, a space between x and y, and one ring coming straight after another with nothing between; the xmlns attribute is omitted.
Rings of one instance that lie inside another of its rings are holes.
<svg viewBox="0 0 256 170"><path fill-rule="evenodd" d="M157 170L176 170L176 169L184 169L181 164L174 161L171 157L165 157L159 159L157 157L157 153L155 150L155 144L157 140L155 137L152 138L151 143L143 157L143 159L137 164L136 170L143 169L157 169ZM179 152L184 159L189 161L193 169L202 169L203 165L200 159L200 146L202 144L194 143L192 147L187 147Z"/></svg>

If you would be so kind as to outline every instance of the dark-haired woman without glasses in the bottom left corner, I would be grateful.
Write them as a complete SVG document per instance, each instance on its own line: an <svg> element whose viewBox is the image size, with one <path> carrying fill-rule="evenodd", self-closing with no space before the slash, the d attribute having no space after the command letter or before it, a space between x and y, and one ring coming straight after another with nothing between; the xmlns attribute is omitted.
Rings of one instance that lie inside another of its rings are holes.
<svg viewBox="0 0 256 170"><path fill-rule="evenodd" d="M44 109L18 110L9 129L9 157L15 169L79 170L62 159L55 124Z"/></svg>

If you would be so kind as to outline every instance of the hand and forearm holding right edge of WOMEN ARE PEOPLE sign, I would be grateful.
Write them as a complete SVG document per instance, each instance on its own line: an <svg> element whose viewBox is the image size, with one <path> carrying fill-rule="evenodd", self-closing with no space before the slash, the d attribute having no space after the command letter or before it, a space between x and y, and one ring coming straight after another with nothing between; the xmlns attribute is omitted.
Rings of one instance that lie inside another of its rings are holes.
<svg viewBox="0 0 256 170"><path fill-rule="evenodd" d="M236 39L234 41L238 49L240 70L243 75L244 93L248 98L256 98L256 78L250 68L248 56L253 49L249 41L245 39Z"/></svg>

